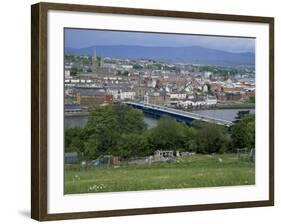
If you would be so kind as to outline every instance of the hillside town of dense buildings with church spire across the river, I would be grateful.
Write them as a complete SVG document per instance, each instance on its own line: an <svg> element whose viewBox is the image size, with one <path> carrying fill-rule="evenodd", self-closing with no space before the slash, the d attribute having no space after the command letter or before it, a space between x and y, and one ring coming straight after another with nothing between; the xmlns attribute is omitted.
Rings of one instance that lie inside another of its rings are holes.
<svg viewBox="0 0 281 224"><path fill-rule="evenodd" d="M65 112L137 101L183 110L255 100L251 66L206 66L151 59L65 55Z"/></svg>

